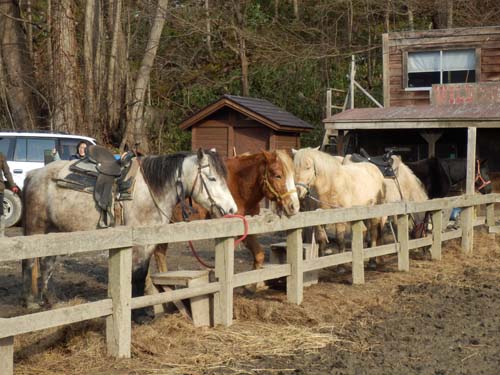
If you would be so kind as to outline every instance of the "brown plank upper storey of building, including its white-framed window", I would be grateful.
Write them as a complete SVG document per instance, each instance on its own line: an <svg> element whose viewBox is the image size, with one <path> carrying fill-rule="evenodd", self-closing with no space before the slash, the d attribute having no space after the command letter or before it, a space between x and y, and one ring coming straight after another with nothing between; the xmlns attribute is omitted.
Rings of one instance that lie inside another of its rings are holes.
<svg viewBox="0 0 500 375"><path fill-rule="evenodd" d="M433 84L500 81L500 26L382 35L384 107L428 105Z"/></svg>

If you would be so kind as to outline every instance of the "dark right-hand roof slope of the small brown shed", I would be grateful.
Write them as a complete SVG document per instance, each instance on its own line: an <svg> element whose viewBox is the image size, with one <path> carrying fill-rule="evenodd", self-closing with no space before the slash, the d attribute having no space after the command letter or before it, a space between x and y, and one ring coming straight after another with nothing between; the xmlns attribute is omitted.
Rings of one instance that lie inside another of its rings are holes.
<svg viewBox="0 0 500 375"><path fill-rule="evenodd" d="M308 128L312 129L313 126L307 122L295 117L290 112L286 112L281 108L275 106L273 103L265 99L250 98L248 96L236 96L236 95L224 95L224 98L232 100L238 103L242 107L245 107L267 119L275 122L280 126L286 126L291 128Z"/></svg>

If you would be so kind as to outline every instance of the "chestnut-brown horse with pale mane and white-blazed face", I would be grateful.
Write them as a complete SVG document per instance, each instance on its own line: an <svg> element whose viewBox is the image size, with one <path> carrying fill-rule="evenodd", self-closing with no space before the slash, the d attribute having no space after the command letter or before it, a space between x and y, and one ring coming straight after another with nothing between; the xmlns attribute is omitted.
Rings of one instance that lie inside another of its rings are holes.
<svg viewBox="0 0 500 375"><path fill-rule="evenodd" d="M262 151L256 154L243 154L229 158L225 162L227 168L227 185L238 206L240 215L258 215L263 198L271 201L272 207L279 214L287 216L299 212L299 198L295 190L292 158L283 150L273 152ZM198 211L201 211L197 209ZM198 212L190 219L206 219L208 215ZM175 221L182 221L179 205L176 207ZM264 249L255 235L244 240L246 247L252 252L254 268L262 268ZM166 247L158 247L157 266L166 270ZM261 287L263 284L258 284Z"/></svg>

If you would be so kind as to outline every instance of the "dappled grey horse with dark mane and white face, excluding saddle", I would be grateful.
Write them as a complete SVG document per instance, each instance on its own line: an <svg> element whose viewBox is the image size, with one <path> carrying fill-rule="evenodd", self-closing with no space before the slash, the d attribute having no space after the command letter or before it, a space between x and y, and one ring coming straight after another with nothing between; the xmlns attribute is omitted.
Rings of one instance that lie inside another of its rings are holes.
<svg viewBox="0 0 500 375"><path fill-rule="evenodd" d="M169 223L172 209L180 200L179 190L214 215L237 210L226 184L226 169L216 153L179 153L147 156L133 160L140 168L135 178L133 199L123 201L125 225L143 226ZM99 212L91 194L61 188L55 179L69 173L72 162L58 161L28 174L24 184L24 234L72 232L96 229ZM154 247L134 248L133 295L142 295L149 260ZM44 258L42 296L47 297L48 281L55 257ZM25 300L36 307L31 290L33 260L23 261ZM135 315L137 317L137 315Z"/></svg>

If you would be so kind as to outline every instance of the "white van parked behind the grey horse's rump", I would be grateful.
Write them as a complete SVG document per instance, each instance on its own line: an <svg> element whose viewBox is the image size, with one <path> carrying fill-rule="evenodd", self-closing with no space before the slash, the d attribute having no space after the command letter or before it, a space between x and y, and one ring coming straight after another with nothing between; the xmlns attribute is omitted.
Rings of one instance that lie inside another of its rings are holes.
<svg viewBox="0 0 500 375"><path fill-rule="evenodd" d="M85 141L88 145L96 144L94 138L51 132L0 131L0 152L9 164L14 182L20 189L24 186L26 174L46 163L46 155L55 148L63 160L69 160L76 153L76 145ZM16 224L21 218L22 204L19 197L5 189L4 195L5 225Z"/></svg>

